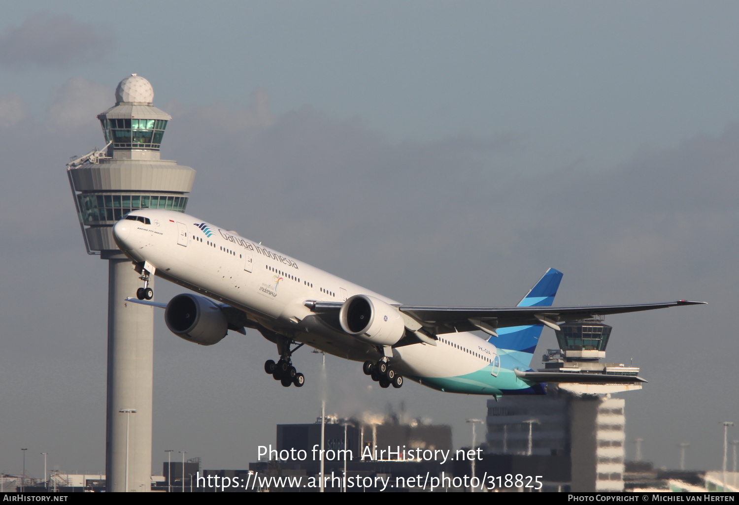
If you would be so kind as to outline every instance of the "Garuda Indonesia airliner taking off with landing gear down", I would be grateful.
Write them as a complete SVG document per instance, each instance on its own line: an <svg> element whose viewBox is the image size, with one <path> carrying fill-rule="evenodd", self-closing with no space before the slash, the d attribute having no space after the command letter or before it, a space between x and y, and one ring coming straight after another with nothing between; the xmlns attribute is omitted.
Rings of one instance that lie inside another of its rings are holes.
<svg viewBox="0 0 739 505"><path fill-rule="evenodd" d="M134 210L114 225L113 235L143 282L136 298L127 300L166 309L168 329L201 346L218 343L229 330L256 329L276 344L278 359L267 360L265 372L285 387L305 382L293 365L305 344L363 362L364 374L382 388L401 388L409 379L439 391L497 398L545 394L548 382L641 382L537 372L531 358L544 326L704 303L555 307L562 272L548 269L514 307L406 305L172 210ZM155 302L151 275L192 292Z"/></svg>

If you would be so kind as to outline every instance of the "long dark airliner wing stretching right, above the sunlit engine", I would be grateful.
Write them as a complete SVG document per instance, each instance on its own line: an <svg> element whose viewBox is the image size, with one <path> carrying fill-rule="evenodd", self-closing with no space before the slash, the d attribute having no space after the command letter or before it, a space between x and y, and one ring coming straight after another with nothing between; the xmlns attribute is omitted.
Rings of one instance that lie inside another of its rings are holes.
<svg viewBox="0 0 739 505"><path fill-rule="evenodd" d="M508 326L545 324L559 329L556 323L590 319L599 315L624 314L643 310L664 309L682 305L698 305L706 302L677 300L666 303L642 303L639 305L599 305L571 307L443 307L399 305L398 310L417 320L435 334L451 331L483 330L494 334L495 329ZM329 301L306 302L313 312L331 312L341 309L342 303Z"/></svg>

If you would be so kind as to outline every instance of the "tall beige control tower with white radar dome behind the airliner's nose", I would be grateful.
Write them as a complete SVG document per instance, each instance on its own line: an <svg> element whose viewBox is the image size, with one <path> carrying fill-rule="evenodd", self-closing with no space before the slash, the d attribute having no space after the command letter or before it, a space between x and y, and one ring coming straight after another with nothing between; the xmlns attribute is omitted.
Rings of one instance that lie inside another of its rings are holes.
<svg viewBox="0 0 739 505"><path fill-rule="evenodd" d="M126 303L143 281L115 246L112 226L140 208L183 212L195 178L192 168L160 159L171 116L154 107L153 99L154 89L143 77L132 74L121 80L115 89L115 106L98 115L106 146L67 164L87 253L108 261L109 492L151 489L154 347L154 309Z"/></svg>

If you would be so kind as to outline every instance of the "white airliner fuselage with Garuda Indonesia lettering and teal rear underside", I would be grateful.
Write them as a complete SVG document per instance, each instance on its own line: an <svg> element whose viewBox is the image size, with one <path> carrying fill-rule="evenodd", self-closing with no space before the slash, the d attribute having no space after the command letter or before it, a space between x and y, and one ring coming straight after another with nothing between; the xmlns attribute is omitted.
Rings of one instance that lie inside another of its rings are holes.
<svg viewBox="0 0 739 505"><path fill-rule="evenodd" d="M241 309L255 323L296 342L348 360L382 357L377 346L324 323L305 302L342 302L353 295L398 305L395 300L187 214L137 210L132 215L146 216L151 224L118 221L116 241L126 255L146 262L155 275ZM392 348L393 368L443 391L500 394L501 386L494 380L499 372L493 368L494 345L468 332L438 337L437 346L415 343ZM435 381L462 376L468 378Z"/></svg>

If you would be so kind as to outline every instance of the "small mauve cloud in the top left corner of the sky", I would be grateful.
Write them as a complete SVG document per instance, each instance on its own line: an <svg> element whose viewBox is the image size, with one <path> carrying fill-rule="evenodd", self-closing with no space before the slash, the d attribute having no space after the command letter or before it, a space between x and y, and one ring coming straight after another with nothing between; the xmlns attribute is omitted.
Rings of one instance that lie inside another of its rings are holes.
<svg viewBox="0 0 739 505"><path fill-rule="evenodd" d="M70 16L36 14L0 35L0 64L63 68L72 63L101 61L112 47L110 35Z"/></svg>

